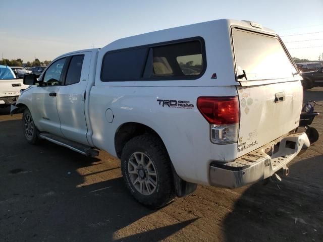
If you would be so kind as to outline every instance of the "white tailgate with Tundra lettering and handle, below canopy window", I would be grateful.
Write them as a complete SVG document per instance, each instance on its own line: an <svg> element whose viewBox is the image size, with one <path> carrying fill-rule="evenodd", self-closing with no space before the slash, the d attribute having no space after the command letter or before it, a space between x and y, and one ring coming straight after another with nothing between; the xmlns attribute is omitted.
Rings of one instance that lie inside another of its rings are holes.
<svg viewBox="0 0 323 242"><path fill-rule="evenodd" d="M300 81L239 87L238 157L298 127L303 89Z"/></svg>

